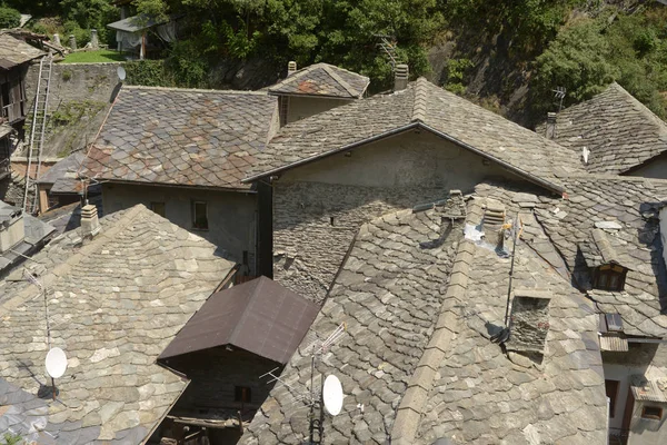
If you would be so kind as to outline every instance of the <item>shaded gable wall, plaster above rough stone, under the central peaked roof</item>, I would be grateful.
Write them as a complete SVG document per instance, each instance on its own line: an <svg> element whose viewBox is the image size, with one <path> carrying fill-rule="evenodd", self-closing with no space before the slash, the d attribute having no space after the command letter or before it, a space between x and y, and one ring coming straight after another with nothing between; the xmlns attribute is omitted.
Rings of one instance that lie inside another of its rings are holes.
<svg viewBox="0 0 667 445"><path fill-rule="evenodd" d="M321 301L362 224L488 177L519 180L427 131L289 170L273 184L273 278Z"/></svg>

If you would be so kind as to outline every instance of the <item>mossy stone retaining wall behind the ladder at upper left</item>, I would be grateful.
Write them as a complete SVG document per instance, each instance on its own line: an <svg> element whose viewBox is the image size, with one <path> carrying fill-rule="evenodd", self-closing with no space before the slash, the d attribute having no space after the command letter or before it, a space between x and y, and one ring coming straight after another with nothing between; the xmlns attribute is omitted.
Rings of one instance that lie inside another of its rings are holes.
<svg viewBox="0 0 667 445"><path fill-rule="evenodd" d="M107 110L120 88L117 69L120 63L54 63L49 92L49 128L42 157L62 158L81 150L100 129ZM26 75L26 93L30 110L39 75L39 63ZM29 113L27 135L31 125ZM27 145L24 146L27 148ZM26 156L23 152L18 156Z"/></svg>

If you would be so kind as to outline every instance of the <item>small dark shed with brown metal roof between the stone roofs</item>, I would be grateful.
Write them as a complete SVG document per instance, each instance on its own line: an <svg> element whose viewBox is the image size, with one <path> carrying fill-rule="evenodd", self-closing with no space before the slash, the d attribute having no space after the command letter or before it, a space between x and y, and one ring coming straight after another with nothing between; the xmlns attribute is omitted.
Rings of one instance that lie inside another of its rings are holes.
<svg viewBox="0 0 667 445"><path fill-rule="evenodd" d="M158 357L191 383L157 434L236 443L273 386L260 377L279 374L318 312L266 277L211 295Z"/></svg>

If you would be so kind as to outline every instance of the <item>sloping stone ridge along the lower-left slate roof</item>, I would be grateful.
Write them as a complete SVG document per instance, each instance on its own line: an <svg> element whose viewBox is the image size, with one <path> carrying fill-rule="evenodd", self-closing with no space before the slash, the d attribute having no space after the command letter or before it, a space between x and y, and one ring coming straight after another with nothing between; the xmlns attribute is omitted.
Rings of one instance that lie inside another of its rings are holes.
<svg viewBox="0 0 667 445"><path fill-rule="evenodd" d="M68 274L74 266L77 266L81 260L87 256L93 253L99 247L103 246L103 243L109 239L116 238L122 229L125 229L133 219L137 217L142 209L146 209L146 206L142 204L138 204L135 207L129 208L125 211L125 214L109 228L108 230L100 230L100 233L92 238L92 240L86 245L83 245L79 251L73 255L70 255L64 263L61 263L53 267L48 274L46 274L40 284L47 288L51 286L58 278ZM26 297L30 297L33 295L32 287L26 286L21 289L18 295L10 300L6 301L0 307L0 314L4 314L8 309L16 308L20 303L24 301Z"/></svg>

